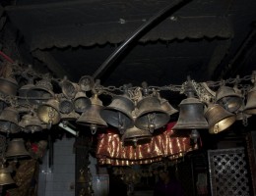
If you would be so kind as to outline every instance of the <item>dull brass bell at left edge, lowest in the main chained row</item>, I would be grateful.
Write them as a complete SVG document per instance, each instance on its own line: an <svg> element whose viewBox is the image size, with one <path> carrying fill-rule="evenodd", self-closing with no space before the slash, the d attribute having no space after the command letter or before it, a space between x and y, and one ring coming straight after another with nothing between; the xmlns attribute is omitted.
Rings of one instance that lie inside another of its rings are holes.
<svg viewBox="0 0 256 196"><path fill-rule="evenodd" d="M0 131L17 133L20 130L18 111L13 107L5 108L0 115Z"/></svg>

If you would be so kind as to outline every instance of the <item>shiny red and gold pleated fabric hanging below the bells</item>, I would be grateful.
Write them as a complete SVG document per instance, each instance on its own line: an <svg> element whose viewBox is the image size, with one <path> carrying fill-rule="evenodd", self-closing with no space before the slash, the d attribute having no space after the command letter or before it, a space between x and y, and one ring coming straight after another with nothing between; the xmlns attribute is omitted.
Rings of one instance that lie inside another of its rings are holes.
<svg viewBox="0 0 256 196"><path fill-rule="evenodd" d="M111 132L99 134L96 157L101 165L129 166L151 164L162 158L176 159L191 151L189 136L170 137L174 123L168 123L165 130L153 136L151 142L137 146L124 146L120 135ZM195 149L195 148L193 148Z"/></svg>

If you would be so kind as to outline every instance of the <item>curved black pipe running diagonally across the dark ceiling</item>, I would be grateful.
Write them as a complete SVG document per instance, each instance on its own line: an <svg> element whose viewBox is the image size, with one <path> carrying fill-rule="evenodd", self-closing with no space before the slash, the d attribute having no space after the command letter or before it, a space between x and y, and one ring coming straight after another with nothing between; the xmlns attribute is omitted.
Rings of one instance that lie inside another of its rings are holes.
<svg viewBox="0 0 256 196"><path fill-rule="evenodd" d="M149 19L145 24L141 25L135 32L132 33L115 51L101 64L101 66L93 74L94 78L100 77L100 75L116 60L122 52L131 44L133 41L138 40L142 35L148 32L154 25L160 23L161 20L165 19L166 16L170 15L170 12L175 12L179 7L183 6L184 3L189 0L172 0L172 2L160 10L155 16Z"/></svg>

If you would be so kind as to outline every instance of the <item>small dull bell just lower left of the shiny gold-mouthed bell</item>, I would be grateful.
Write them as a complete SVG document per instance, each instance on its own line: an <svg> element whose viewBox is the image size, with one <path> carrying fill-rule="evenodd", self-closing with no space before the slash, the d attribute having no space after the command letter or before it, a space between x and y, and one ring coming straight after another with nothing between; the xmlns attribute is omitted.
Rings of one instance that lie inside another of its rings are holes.
<svg viewBox="0 0 256 196"><path fill-rule="evenodd" d="M22 117L19 125L23 128L24 132L38 132L46 128L45 124L38 119L36 114L27 114Z"/></svg>

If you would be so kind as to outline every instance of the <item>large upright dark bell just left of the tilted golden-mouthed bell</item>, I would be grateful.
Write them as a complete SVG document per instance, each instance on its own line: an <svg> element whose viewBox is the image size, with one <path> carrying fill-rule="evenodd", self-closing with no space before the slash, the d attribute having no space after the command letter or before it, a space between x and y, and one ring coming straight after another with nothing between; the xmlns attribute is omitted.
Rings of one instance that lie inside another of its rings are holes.
<svg viewBox="0 0 256 196"><path fill-rule="evenodd" d="M176 129L207 129L204 117L204 104L195 97L188 97L179 104L179 117L173 126Z"/></svg>

